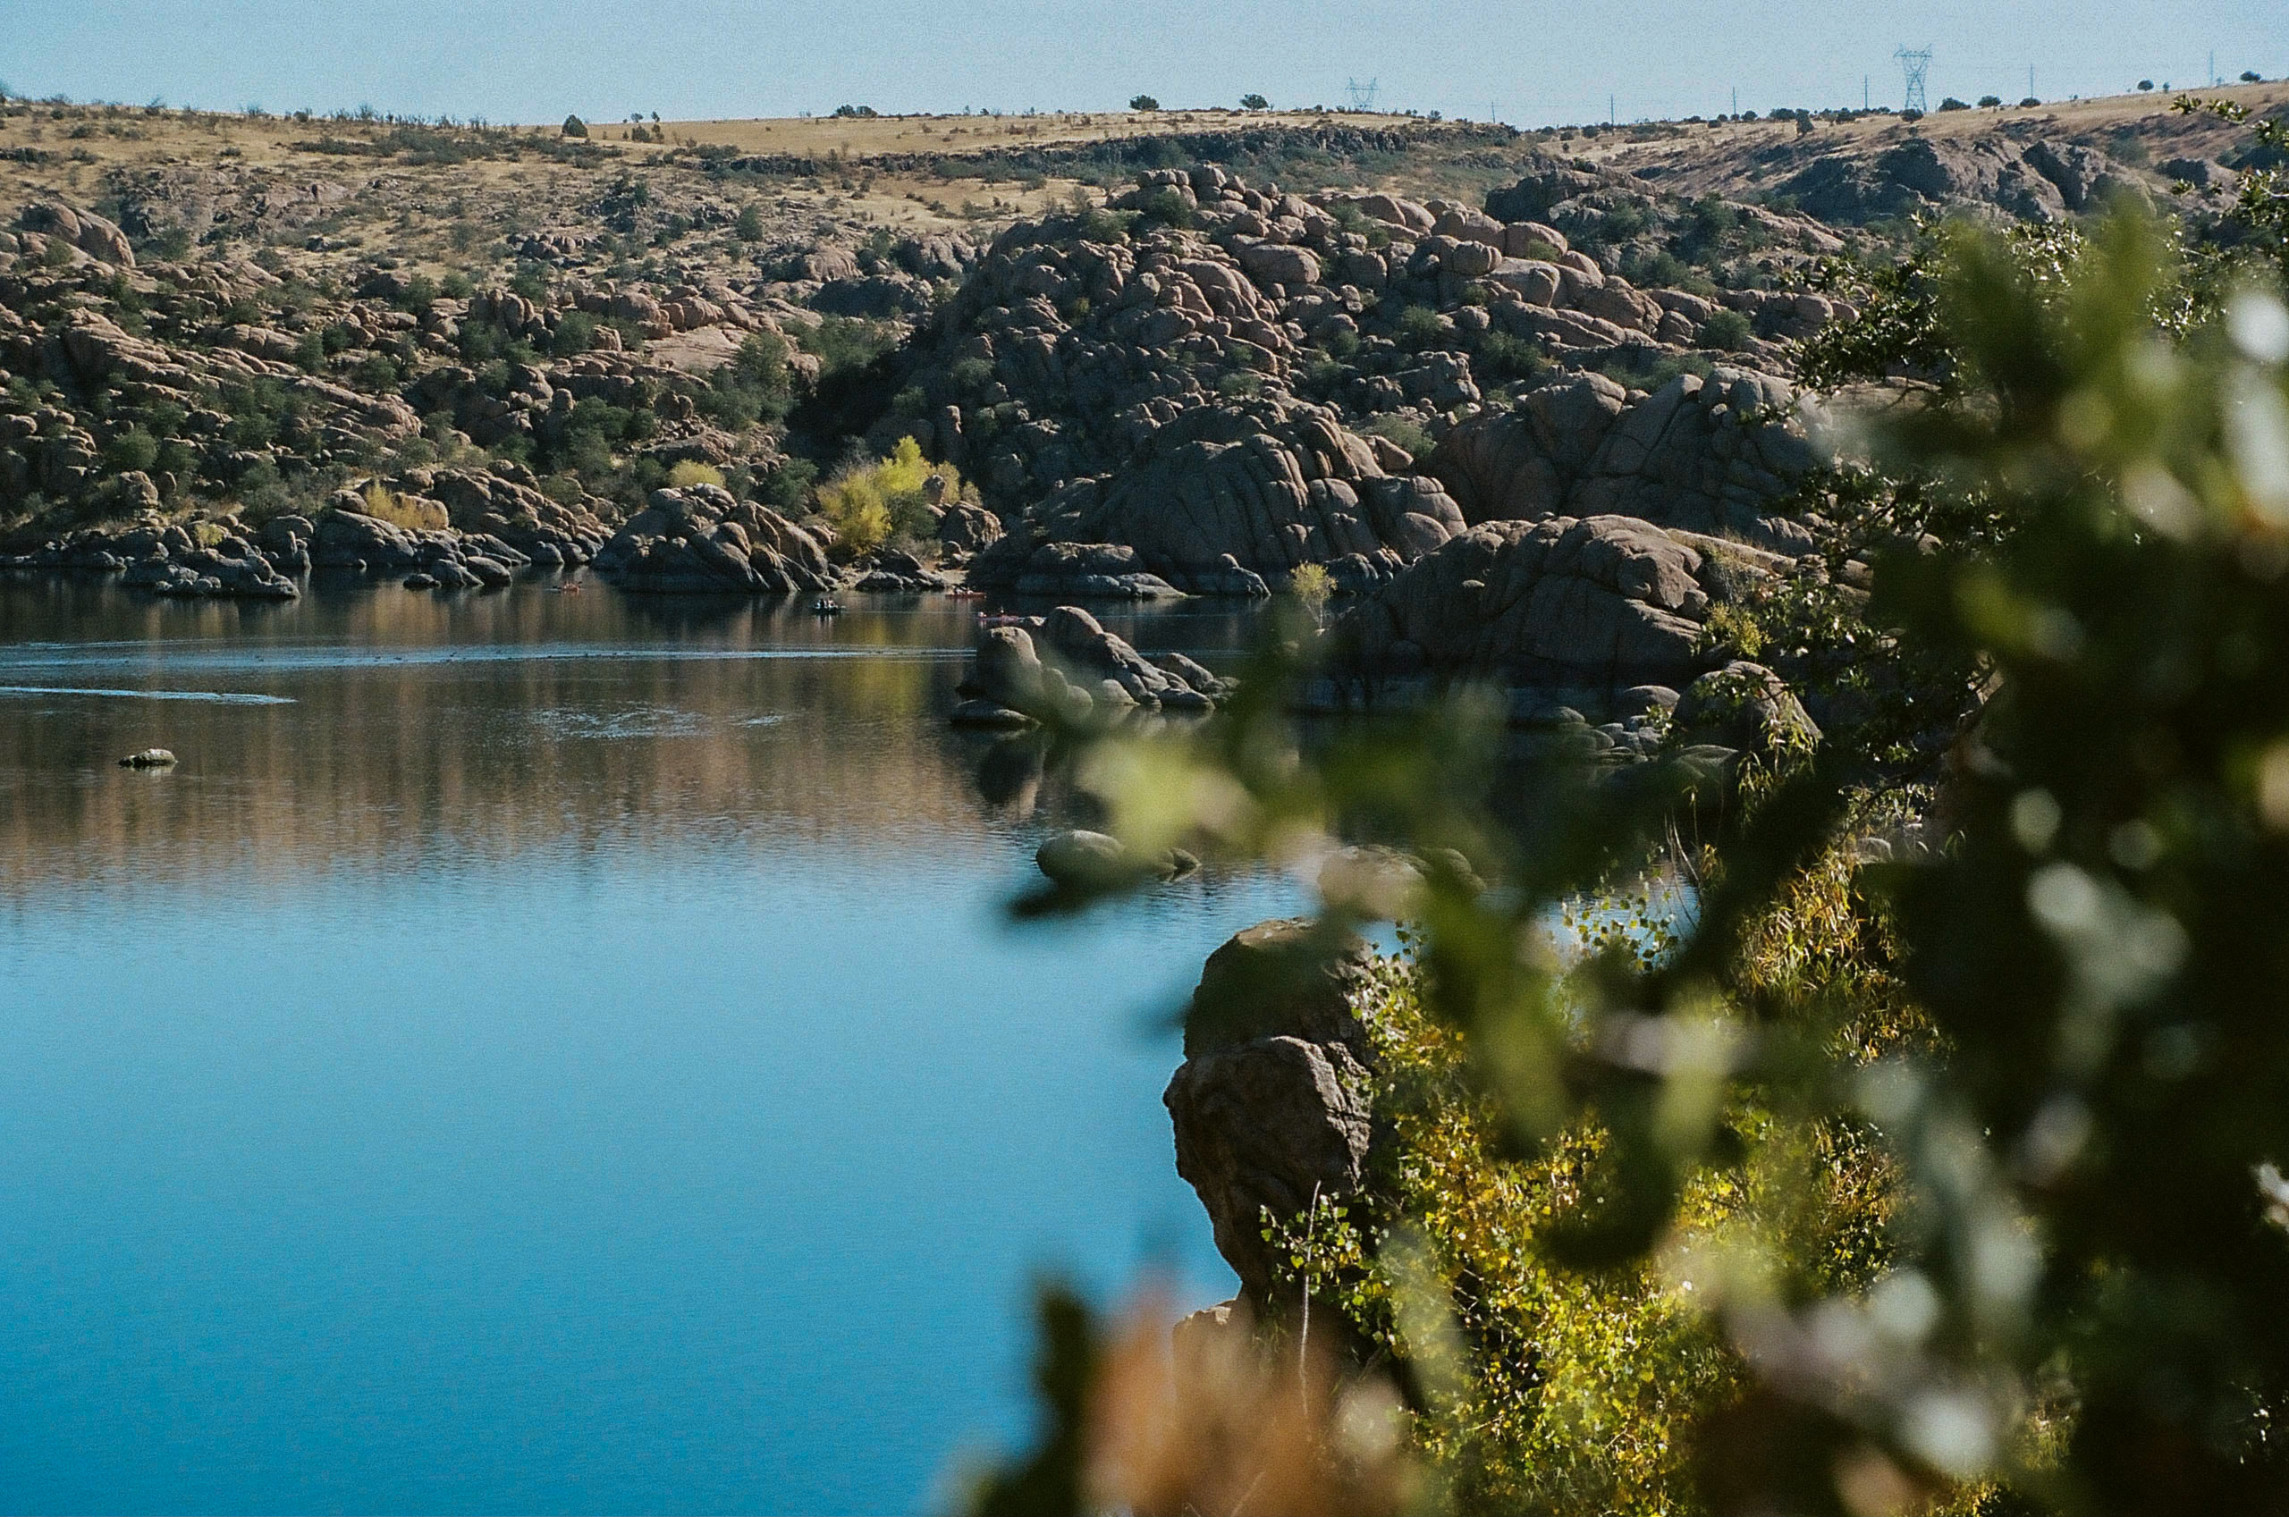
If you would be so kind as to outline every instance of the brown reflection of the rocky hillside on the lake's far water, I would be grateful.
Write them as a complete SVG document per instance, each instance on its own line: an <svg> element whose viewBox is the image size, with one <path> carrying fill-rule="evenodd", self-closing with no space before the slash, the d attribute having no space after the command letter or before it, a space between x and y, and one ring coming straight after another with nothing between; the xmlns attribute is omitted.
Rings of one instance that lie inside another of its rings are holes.
<svg viewBox="0 0 2289 1517"><path fill-rule="evenodd" d="M973 613L852 599L819 620L595 588L353 586L293 604L0 588L0 888L694 833L975 853L1028 821L1039 753L980 755L936 721ZM1243 615L1112 620L1147 648L1213 652L1245 641ZM151 746L181 764L117 769Z"/></svg>

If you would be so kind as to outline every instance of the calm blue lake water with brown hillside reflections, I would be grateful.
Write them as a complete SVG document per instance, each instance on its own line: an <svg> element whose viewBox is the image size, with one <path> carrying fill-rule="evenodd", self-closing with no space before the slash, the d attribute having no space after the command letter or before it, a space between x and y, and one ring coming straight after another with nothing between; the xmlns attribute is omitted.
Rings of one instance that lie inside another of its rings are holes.
<svg viewBox="0 0 2289 1517"><path fill-rule="evenodd" d="M1009 927L1058 783L863 599L0 583L0 1510L920 1510L1039 1272L1229 1295L1158 1018L1293 892Z"/></svg>

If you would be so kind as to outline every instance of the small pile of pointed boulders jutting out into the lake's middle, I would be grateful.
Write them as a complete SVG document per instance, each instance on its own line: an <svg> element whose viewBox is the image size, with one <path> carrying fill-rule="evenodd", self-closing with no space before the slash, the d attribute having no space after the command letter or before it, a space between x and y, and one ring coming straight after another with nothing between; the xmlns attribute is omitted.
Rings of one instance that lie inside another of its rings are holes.
<svg viewBox="0 0 2289 1517"><path fill-rule="evenodd" d="M1147 659L1080 606L982 627L955 725L1087 725L1128 712L1206 712L1227 684L1183 654Z"/></svg>

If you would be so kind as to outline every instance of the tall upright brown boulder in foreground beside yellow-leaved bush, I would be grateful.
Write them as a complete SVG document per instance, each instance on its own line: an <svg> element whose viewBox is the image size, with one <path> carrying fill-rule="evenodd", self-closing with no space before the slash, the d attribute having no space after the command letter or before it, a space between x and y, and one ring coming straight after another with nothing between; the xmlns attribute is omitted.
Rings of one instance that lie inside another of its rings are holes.
<svg viewBox="0 0 2289 1517"><path fill-rule="evenodd" d="M1314 1199L1357 1213L1369 1192L1373 1048L1357 1011L1369 961L1357 938L1259 922L1209 956L1186 1011L1186 1059L1161 1096L1177 1174L1259 1318L1284 1316L1291 1297L1266 1213L1286 1222Z"/></svg>

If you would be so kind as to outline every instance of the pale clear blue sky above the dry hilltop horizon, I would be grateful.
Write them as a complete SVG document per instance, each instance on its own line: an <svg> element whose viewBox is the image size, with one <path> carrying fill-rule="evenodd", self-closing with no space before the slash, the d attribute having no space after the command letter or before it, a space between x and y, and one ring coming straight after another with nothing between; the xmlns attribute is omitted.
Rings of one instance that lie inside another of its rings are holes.
<svg viewBox="0 0 2289 1517"><path fill-rule="evenodd" d="M2115 94L2289 73L2282 0L0 0L16 94L556 121L879 110L1339 105L1520 126L1900 101Z"/></svg>

